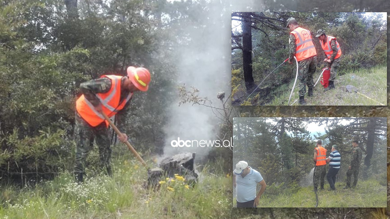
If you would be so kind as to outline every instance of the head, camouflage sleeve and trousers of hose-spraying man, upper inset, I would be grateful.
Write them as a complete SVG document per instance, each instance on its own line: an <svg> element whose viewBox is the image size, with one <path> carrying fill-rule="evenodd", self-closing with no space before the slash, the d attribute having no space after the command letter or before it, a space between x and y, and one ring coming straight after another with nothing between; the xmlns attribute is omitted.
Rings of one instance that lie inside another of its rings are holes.
<svg viewBox="0 0 390 219"><path fill-rule="evenodd" d="M294 18L287 19L287 26L291 31L300 27ZM310 39L311 40L311 39ZM297 52L297 44L296 37L294 34L289 35L289 63L292 64L294 60L294 56ZM298 61L298 79L299 79L299 97L300 104L305 105L304 96L306 94L306 85L308 87L308 96L311 97L313 95L313 74L316 72L316 62L317 56L314 55L312 57L308 57L304 60Z"/></svg>

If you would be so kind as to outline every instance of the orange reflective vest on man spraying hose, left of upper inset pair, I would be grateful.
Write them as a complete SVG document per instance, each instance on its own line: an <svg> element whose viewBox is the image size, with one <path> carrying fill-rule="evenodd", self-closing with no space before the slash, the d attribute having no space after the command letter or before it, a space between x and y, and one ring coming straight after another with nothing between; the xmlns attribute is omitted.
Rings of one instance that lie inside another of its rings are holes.
<svg viewBox="0 0 390 219"><path fill-rule="evenodd" d="M317 55L310 31L298 26L293 31L291 31L290 34L295 36L295 57L298 62Z"/></svg>

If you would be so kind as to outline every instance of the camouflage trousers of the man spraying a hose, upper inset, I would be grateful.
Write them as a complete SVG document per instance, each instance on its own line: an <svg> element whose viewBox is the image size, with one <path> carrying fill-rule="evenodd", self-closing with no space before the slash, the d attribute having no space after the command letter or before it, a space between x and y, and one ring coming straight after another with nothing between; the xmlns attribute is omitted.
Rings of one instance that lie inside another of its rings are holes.
<svg viewBox="0 0 390 219"><path fill-rule="evenodd" d="M313 88L313 74L316 72L317 56L307 58L298 62L299 96L306 94L306 85Z"/></svg>

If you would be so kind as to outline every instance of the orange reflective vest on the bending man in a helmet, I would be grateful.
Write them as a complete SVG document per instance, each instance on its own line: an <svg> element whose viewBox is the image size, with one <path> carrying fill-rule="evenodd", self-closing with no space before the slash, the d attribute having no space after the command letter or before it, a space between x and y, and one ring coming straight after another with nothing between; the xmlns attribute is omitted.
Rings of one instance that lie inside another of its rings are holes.
<svg viewBox="0 0 390 219"><path fill-rule="evenodd" d="M96 97L100 100L102 104L103 112L108 116L112 117L121 109L124 108L126 102L129 101L133 93L129 93L129 95L124 99L121 103L119 99L121 98L121 79L122 76L116 75L103 75L101 78L106 77L111 79L111 88L106 93L96 94ZM91 102L89 102L84 95L81 95L76 101L76 110L78 114L90 124L92 127L96 127L102 122L106 123L106 127L108 127L109 123L105 120L103 115L96 111Z"/></svg>

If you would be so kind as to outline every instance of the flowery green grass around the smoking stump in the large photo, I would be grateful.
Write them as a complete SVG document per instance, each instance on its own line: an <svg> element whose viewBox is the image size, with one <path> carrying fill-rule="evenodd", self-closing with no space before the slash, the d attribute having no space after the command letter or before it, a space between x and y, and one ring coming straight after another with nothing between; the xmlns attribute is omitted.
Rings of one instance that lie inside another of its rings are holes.
<svg viewBox="0 0 390 219"><path fill-rule="evenodd" d="M67 171L54 180L23 189L0 187L0 218L227 218L232 179L204 168L199 182L179 180L145 189L147 170L135 159L118 159L112 177L90 177L76 184ZM172 189L168 189L168 187Z"/></svg>

